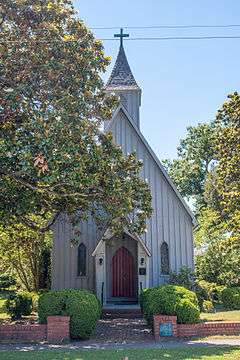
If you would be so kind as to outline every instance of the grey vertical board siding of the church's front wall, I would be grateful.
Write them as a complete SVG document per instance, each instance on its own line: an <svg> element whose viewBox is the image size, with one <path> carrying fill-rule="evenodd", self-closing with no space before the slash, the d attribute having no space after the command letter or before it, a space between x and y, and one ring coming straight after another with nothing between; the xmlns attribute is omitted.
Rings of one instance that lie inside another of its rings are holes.
<svg viewBox="0 0 240 360"><path fill-rule="evenodd" d="M164 283L161 274L162 242L169 246L170 269L178 271L183 265L193 267L192 219L174 189L166 180L149 149L134 129L131 121L119 110L110 129L115 142L125 154L136 152L143 162L141 176L147 179L152 193L153 215L147 219L147 232L142 239L152 256L148 261L149 286ZM52 251L52 288L83 288L95 291L95 259L92 253L99 241L96 225L91 217L79 225L79 243L87 248L86 276L77 276L77 246L72 245L72 226L62 214L54 225Z"/></svg>

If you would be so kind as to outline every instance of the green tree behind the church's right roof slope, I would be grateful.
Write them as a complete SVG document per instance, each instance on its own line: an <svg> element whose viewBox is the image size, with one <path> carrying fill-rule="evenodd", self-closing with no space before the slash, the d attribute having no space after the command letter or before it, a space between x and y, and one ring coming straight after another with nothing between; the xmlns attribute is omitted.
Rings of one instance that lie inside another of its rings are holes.
<svg viewBox="0 0 240 360"><path fill-rule="evenodd" d="M178 158L164 162L182 196L193 198L196 206L205 206L204 185L214 160L215 125L199 124L187 128L177 149Z"/></svg>

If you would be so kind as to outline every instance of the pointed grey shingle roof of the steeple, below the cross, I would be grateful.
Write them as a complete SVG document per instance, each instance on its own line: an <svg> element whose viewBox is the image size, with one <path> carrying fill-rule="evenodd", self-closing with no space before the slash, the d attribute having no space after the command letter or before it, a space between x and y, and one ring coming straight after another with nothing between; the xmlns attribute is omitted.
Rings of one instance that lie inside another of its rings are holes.
<svg viewBox="0 0 240 360"><path fill-rule="evenodd" d="M110 89L139 89L128 64L123 45L120 45L117 60L106 87Z"/></svg>

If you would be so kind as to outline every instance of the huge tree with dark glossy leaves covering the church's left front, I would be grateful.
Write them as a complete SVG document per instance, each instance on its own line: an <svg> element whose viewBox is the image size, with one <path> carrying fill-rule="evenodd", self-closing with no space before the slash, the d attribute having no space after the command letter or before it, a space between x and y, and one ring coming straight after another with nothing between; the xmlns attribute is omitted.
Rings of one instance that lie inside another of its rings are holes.
<svg viewBox="0 0 240 360"><path fill-rule="evenodd" d="M45 232L62 211L74 224L91 213L143 232L152 209L141 164L99 131L116 105L100 77L109 64L102 43L68 0L0 5L1 221Z"/></svg>

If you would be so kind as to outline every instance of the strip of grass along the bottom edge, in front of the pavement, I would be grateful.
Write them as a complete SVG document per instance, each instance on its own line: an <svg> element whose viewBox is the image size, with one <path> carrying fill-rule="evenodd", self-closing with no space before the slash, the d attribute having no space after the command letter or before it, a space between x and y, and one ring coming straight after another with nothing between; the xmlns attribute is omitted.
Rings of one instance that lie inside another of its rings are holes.
<svg viewBox="0 0 240 360"><path fill-rule="evenodd" d="M232 347L188 347L179 349L138 350L40 350L1 351L1 360L238 360L239 348Z"/></svg>

